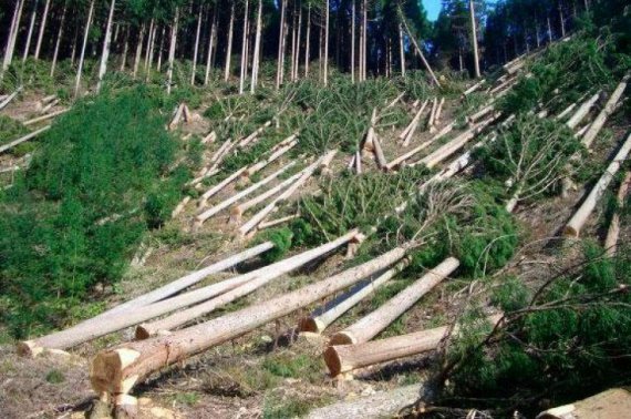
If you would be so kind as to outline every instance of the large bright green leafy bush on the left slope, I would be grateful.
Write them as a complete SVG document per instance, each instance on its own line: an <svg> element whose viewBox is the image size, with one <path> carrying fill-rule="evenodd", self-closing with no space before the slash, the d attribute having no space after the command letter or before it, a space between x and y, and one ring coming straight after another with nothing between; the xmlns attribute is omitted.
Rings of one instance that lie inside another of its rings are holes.
<svg viewBox="0 0 631 419"><path fill-rule="evenodd" d="M176 151L142 88L105 91L55 121L0 195L0 306L17 336L65 324L96 284L122 277L146 225L179 200Z"/></svg>

